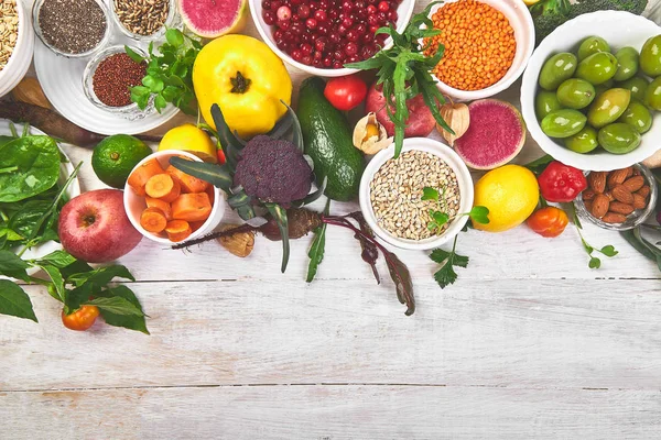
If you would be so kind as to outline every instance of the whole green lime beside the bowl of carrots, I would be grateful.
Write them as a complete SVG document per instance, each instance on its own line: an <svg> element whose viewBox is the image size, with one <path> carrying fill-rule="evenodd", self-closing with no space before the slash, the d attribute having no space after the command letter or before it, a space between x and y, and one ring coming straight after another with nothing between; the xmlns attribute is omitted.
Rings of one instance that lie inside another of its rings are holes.
<svg viewBox="0 0 661 440"><path fill-rule="evenodd" d="M138 138L115 134L95 146L91 167L104 184L123 188L131 170L151 153L151 148Z"/></svg>

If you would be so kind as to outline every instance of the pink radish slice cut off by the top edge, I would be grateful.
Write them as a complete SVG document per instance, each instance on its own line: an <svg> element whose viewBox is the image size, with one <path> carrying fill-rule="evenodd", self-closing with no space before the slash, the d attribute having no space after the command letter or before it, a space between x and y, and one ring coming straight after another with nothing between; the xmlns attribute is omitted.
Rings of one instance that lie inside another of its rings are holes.
<svg viewBox="0 0 661 440"><path fill-rule="evenodd" d="M184 24L204 38L241 32L246 26L247 0L178 0Z"/></svg>

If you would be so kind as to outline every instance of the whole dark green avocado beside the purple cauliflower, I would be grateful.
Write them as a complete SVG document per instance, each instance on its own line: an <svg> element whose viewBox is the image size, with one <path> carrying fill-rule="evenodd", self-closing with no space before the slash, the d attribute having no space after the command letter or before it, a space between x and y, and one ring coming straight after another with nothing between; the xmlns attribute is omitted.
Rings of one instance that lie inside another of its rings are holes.
<svg viewBox="0 0 661 440"><path fill-rule="evenodd" d="M307 78L299 95L299 121L305 154L314 162L317 184L328 178L326 196L349 201L358 196L365 170L362 153L354 146L351 129L345 116L324 97L322 78Z"/></svg>

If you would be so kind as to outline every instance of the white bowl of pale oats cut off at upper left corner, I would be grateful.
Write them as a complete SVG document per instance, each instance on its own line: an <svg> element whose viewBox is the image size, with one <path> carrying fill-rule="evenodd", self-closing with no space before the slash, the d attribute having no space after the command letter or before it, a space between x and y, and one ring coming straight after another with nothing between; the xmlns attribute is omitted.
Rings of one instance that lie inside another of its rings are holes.
<svg viewBox="0 0 661 440"><path fill-rule="evenodd" d="M21 0L0 0L0 97L23 79L33 51L30 11Z"/></svg>

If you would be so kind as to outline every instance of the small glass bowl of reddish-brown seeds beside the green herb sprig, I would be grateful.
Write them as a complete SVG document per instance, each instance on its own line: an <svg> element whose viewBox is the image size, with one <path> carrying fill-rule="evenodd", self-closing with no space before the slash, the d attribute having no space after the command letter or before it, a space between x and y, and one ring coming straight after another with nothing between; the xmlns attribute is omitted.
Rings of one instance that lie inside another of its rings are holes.
<svg viewBox="0 0 661 440"><path fill-rule="evenodd" d="M139 55L145 53L131 47ZM83 90L91 103L101 110L117 113L126 119L140 119L154 108L140 110L131 101L131 87L141 86L147 74L147 63L136 63L124 51L124 46L109 46L97 53L83 73Z"/></svg>

